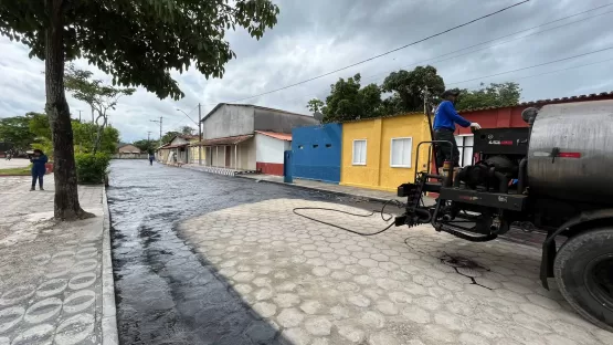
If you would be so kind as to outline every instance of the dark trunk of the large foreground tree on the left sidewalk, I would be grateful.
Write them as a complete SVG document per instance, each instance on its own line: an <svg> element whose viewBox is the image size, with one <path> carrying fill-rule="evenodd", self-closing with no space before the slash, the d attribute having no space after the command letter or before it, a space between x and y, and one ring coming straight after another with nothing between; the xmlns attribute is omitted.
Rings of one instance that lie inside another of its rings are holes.
<svg viewBox="0 0 613 345"><path fill-rule="evenodd" d="M94 217L78 203L71 112L64 93L63 0L45 0L49 27L45 31L45 111L53 140L55 219Z"/></svg>

